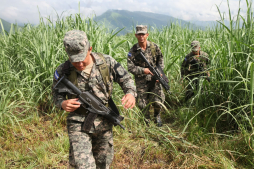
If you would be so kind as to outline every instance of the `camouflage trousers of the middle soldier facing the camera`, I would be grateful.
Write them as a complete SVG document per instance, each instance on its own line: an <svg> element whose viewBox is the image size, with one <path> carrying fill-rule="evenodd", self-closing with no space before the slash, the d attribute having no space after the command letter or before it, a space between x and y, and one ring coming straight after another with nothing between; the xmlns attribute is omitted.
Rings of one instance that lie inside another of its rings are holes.
<svg viewBox="0 0 254 169"><path fill-rule="evenodd" d="M149 83L149 82L148 82ZM165 101L165 95L160 83L156 82L153 89L149 89L149 84L137 84L136 104L142 110L145 118L150 120L150 106L154 107L154 118L160 118L162 104Z"/></svg>

